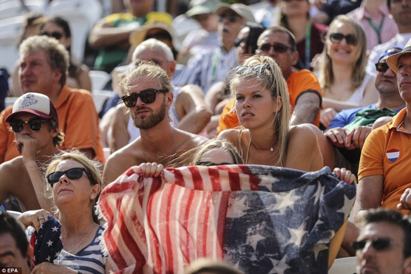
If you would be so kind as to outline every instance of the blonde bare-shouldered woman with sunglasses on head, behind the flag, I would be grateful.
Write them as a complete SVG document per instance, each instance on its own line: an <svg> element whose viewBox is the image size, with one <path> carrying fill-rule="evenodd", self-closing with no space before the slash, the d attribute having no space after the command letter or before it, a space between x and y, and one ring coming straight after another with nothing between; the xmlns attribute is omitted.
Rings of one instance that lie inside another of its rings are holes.
<svg viewBox="0 0 411 274"><path fill-rule="evenodd" d="M248 58L230 80L235 110L245 129L231 129L218 138L228 139L245 164L319 170L322 157L315 133L305 125L290 128L288 89L281 69L269 56Z"/></svg>

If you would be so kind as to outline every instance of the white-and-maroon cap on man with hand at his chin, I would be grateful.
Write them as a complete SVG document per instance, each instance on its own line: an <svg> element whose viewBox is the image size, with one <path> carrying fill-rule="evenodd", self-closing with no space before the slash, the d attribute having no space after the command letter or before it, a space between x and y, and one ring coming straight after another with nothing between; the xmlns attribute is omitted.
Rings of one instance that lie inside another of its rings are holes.
<svg viewBox="0 0 411 274"><path fill-rule="evenodd" d="M53 102L44 94L29 92L21 95L14 102L13 111L7 116L5 122L13 121L19 113L31 113L43 119L51 119L57 123L58 115Z"/></svg>

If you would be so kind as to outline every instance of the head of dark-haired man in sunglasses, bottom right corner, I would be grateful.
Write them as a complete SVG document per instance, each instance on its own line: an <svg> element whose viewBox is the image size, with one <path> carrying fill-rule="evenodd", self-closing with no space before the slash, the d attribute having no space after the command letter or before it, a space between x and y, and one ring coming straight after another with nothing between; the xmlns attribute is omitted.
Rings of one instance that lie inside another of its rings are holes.
<svg viewBox="0 0 411 274"><path fill-rule="evenodd" d="M411 274L411 223L395 210L370 210L352 243L359 274Z"/></svg>

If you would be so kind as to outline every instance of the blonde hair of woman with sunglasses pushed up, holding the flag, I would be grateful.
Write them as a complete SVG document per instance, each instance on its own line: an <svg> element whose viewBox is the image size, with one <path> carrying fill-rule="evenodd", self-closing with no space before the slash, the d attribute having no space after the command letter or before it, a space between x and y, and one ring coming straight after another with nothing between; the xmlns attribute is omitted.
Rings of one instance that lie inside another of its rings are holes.
<svg viewBox="0 0 411 274"><path fill-rule="evenodd" d="M268 63L269 66L262 69L266 63ZM254 70L254 67L257 65L261 65L261 67ZM248 68L241 73L233 73L230 80L230 89L233 96L241 81L254 79L259 81L265 89L270 91L273 99L277 97L282 99L281 108L274 114L274 135L277 138L278 143L278 162L281 162L285 154L290 120L289 93L281 69L273 58L263 55L248 58L242 65L240 65L240 67L242 66L247 66Z"/></svg>

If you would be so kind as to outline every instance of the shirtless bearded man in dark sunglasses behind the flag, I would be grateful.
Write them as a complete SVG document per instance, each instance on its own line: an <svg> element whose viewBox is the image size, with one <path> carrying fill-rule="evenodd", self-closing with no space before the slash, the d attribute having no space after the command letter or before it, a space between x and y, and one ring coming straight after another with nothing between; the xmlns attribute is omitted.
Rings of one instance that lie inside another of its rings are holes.
<svg viewBox="0 0 411 274"><path fill-rule="evenodd" d="M105 182L113 182L129 167L140 163L157 162L165 167L188 164L191 159L181 154L208 139L170 124L168 110L174 96L165 71L152 63L142 63L126 74L121 86L122 100L130 109L140 136L110 155L103 170Z"/></svg>

